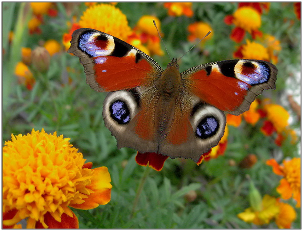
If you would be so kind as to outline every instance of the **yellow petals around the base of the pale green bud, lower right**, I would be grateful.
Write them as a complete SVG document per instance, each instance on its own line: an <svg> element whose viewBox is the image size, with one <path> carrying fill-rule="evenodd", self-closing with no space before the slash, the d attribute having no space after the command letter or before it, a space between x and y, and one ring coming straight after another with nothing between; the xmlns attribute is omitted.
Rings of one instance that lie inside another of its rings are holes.
<svg viewBox="0 0 303 231"><path fill-rule="evenodd" d="M280 207L277 199L275 197L265 195L262 199L261 211L255 211L252 207L249 207L237 216L247 223L263 225L268 224L270 220L277 216L279 211Z"/></svg>

